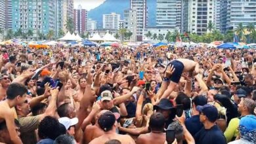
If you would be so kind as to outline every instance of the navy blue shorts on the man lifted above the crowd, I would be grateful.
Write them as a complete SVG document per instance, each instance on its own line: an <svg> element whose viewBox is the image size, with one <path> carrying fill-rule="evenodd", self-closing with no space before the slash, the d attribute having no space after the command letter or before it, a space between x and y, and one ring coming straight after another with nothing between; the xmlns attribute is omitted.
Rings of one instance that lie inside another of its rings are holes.
<svg viewBox="0 0 256 144"><path fill-rule="evenodd" d="M175 83L179 83L183 69L184 69L183 63L179 62L178 60L173 60L172 62L168 63L167 67L169 65L173 65L173 67L175 68L175 71L173 72L171 77L169 77L169 79ZM166 71L166 69L165 69L165 71Z"/></svg>

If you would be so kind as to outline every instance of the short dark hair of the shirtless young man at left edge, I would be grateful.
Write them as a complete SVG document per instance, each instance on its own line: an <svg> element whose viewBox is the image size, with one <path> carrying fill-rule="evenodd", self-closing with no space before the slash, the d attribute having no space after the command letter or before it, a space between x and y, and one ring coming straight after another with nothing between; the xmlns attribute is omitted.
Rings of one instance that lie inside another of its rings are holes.
<svg viewBox="0 0 256 144"><path fill-rule="evenodd" d="M24 84L20 84L17 82L14 82L10 84L7 88L7 99L14 99L17 96L23 96L28 92L28 89Z"/></svg>

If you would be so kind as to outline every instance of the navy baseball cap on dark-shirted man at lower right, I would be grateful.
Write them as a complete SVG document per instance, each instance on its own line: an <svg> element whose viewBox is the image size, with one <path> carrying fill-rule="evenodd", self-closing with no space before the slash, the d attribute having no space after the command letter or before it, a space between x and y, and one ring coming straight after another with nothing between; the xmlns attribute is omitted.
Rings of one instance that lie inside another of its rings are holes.
<svg viewBox="0 0 256 144"><path fill-rule="evenodd" d="M196 110L198 110L200 113L203 113L210 122L215 122L218 118L218 110L213 105L198 105L196 106Z"/></svg>

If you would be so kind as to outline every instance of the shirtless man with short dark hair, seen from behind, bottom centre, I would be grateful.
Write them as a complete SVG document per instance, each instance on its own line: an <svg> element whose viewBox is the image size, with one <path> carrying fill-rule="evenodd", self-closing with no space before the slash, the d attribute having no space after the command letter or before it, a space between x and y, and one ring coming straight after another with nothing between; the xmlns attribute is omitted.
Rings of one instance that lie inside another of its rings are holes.
<svg viewBox="0 0 256 144"><path fill-rule="evenodd" d="M161 113L154 113L150 117L149 128L151 130L148 134L141 134L137 139L137 144L151 144L151 143L165 143L165 118Z"/></svg>

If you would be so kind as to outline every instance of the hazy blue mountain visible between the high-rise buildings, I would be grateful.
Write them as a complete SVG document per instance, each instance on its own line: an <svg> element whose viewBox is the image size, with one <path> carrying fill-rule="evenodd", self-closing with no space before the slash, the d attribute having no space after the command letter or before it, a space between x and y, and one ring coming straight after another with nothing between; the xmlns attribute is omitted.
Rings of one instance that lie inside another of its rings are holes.
<svg viewBox="0 0 256 144"><path fill-rule="evenodd" d="M156 0L148 0L148 26L156 25ZM106 0L104 3L96 7L95 9L89 10L88 17L98 21L99 27L102 27L102 14L110 14L116 12L121 14L123 19L123 11L130 8L130 0Z"/></svg>

